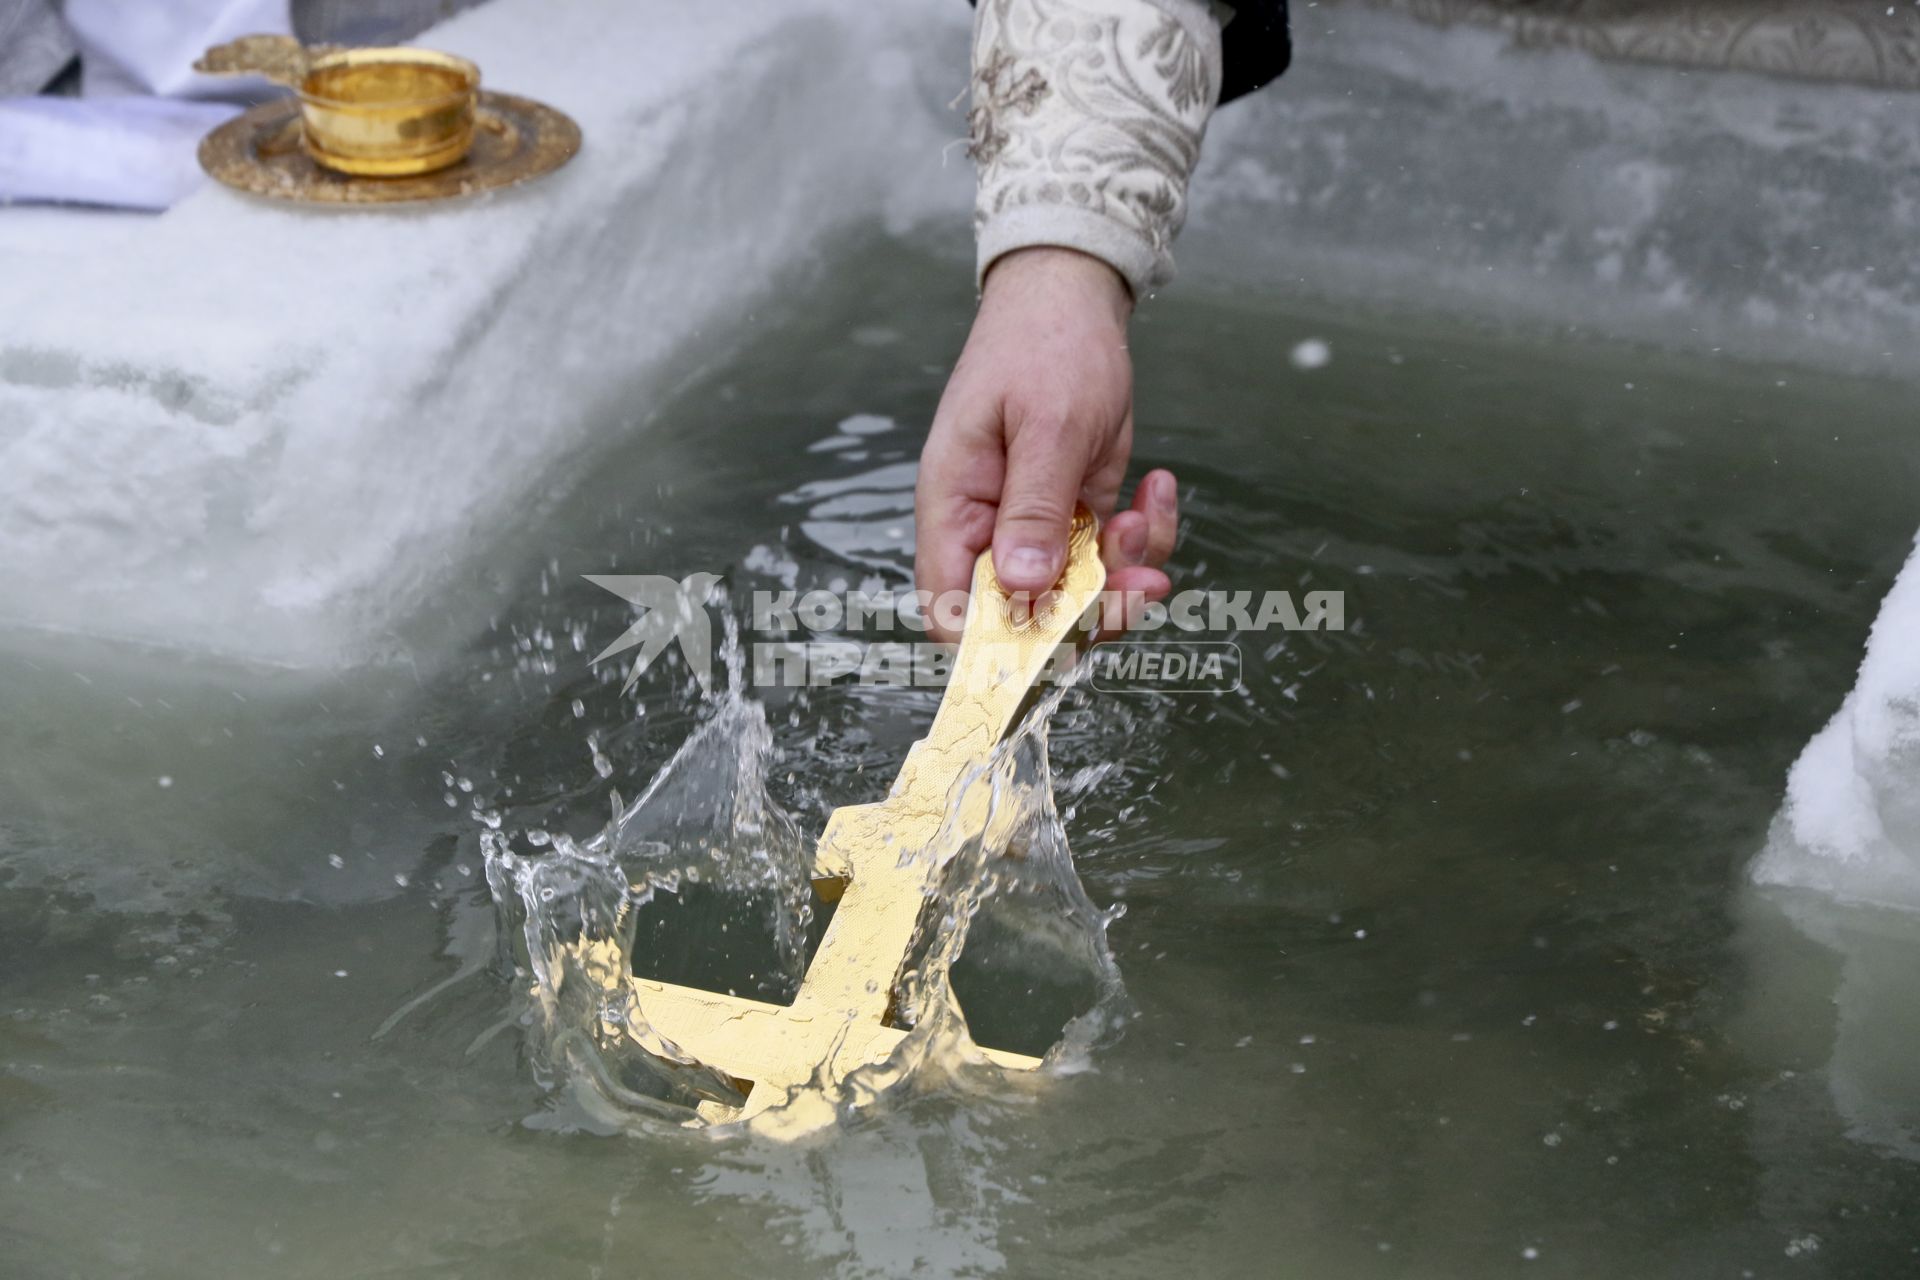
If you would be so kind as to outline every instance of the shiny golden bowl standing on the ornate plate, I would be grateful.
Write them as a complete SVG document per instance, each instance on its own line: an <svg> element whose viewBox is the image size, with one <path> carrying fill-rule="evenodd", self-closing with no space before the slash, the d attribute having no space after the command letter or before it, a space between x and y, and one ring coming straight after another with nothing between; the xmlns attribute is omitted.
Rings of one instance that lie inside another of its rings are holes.
<svg viewBox="0 0 1920 1280"><path fill-rule="evenodd" d="M376 178L432 173L472 146L480 67L424 48L353 48L315 58L298 92L317 165Z"/></svg>

